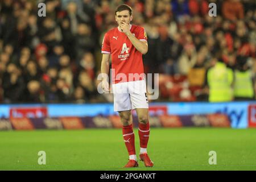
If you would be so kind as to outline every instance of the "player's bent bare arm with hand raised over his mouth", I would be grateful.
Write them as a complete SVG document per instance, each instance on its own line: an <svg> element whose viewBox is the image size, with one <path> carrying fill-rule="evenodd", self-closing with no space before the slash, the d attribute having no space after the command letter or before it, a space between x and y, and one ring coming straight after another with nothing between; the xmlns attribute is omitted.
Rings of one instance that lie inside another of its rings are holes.
<svg viewBox="0 0 256 182"><path fill-rule="evenodd" d="M143 55L145 55L148 51L147 41L146 40L139 40L137 39L130 31L130 26L127 23L122 23L121 25L122 31L127 35L127 37L130 39L133 46L141 52Z"/></svg>

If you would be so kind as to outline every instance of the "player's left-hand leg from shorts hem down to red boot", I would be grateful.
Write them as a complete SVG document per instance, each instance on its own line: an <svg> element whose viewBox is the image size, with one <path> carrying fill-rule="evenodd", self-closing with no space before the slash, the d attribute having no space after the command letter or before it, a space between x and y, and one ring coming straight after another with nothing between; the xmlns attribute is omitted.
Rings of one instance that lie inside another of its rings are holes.
<svg viewBox="0 0 256 182"><path fill-rule="evenodd" d="M135 152L135 139L133 132L133 117L131 115L131 110L119 111L119 116L122 122L123 130L123 141L127 148L129 154L129 162L125 167L137 167L137 157Z"/></svg>

